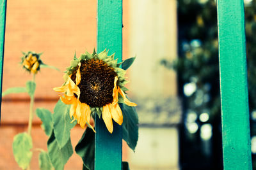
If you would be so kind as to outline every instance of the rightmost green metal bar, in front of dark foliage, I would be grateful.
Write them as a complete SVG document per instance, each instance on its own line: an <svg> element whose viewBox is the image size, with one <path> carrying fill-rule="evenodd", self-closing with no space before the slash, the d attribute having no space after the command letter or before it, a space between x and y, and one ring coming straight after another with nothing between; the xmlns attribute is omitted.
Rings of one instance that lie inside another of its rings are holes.
<svg viewBox="0 0 256 170"><path fill-rule="evenodd" d="M224 169L252 169L243 0L218 0Z"/></svg>

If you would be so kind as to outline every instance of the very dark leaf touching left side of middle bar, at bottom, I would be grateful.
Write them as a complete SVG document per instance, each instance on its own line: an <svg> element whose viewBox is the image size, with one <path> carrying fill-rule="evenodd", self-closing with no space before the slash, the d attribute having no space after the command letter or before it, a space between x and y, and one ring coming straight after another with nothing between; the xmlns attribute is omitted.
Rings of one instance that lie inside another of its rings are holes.
<svg viewBox="0 0 256 170"><path fill-rule="evenodd" d="M90 128L86 128L82 138L76 145L76 153L84 162L87 169L94 169L94 151L95 151L95 132Z"/></svg>

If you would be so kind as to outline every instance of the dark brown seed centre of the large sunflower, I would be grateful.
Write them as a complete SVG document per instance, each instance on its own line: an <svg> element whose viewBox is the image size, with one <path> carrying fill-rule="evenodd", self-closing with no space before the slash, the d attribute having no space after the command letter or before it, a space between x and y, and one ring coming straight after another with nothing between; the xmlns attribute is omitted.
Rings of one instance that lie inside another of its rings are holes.
<svg viewBox="0 0 256 170"><path fill-rule="evenodd" d="M102 107L113 102L114 80L117 74L112 67L102 60L83 60L80 73L81 81L77 86L81 92L81 103L91 107ZM76 71L71 79L76 82Z"/></svg>

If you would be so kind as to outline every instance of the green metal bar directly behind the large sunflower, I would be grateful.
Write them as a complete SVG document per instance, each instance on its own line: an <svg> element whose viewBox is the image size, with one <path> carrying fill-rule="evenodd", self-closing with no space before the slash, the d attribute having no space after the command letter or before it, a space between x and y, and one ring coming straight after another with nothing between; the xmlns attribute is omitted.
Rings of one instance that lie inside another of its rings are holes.
<svg viewBox="0 0 256 170"><path fill-rule="evenodd" d="M107 48L121 62L122 0L98 0L97 8L97 52ZM96 118L95 170L122 168L122 126L113 124L110 134L102 118Z"/></svg>

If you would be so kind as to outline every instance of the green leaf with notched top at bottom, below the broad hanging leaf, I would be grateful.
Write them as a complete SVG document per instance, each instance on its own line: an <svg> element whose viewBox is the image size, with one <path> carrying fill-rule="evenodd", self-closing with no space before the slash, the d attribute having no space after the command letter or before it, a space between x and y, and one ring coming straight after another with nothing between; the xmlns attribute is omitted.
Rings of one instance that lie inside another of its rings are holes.
<svg viewBox="0 0 256 170"><path fill-rule="evenodd" d="M62 148L59 148L53 131L51 137L47 141L47 149L52 166L56 170L63 170L68 159L73 154L70 138L68 139L66 145L64 145Z"/></svg>

